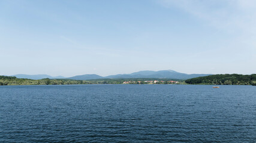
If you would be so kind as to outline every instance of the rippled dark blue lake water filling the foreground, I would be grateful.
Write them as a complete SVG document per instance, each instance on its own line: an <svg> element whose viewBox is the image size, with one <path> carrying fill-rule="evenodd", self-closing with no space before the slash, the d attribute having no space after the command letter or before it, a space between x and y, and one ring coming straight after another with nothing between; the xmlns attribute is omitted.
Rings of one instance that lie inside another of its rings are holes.
<svg viewBox="0 0 256 143"><path fill-rule="evenodd" d="M0 142L256 142L256 86L0 86Z"/></svg>

